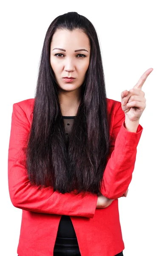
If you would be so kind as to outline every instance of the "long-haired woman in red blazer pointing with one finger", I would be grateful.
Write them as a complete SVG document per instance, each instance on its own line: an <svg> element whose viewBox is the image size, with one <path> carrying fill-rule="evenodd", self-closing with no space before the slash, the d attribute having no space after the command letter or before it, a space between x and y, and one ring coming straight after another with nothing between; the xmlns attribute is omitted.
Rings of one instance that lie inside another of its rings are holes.
<svg viewBox="0 0 162 256"><path fill-rule="evenodd" d="M57 17L45 35L34 99L14 103L9 193L23 210L19 256L122 256L118 198L142 134L142 84L106 98L92 23Z"/></svg>

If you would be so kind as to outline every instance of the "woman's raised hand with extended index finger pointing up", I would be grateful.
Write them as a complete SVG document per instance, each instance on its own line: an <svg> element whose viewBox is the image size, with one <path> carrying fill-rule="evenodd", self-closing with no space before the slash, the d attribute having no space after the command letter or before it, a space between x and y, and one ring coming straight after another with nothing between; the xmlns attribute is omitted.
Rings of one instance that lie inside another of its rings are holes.
<svg viewBox="0 0 162 256"><path fill-rule="evenodd" d="M121 93L122 110L132 122L139 121L146 107L145 93L142 91L142 85L152 71L153 68L146 70L132 89L129 91L124 90Z"/></svg>

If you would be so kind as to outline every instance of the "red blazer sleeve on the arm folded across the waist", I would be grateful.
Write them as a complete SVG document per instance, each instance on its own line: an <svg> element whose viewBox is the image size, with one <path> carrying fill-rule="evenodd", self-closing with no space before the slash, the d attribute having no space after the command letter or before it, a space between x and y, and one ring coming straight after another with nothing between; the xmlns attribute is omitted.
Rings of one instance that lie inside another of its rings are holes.
<svg viewBox="0 0 162 256"><path fill-rule="evenodd" d="M93 218L97 194L85 192L82 197L82 193L61 194L54 192L51 186L40 189L31 185L22 161L22 148L29 129L26 113L18 103L14 103L8 153L9 195L14 207L33 212Z"/></svg>

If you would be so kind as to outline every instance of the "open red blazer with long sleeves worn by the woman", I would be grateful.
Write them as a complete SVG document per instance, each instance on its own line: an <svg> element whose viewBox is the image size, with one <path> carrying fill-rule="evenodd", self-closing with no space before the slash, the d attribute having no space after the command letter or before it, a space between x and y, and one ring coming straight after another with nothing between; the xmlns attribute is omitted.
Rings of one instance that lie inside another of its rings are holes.
<svg viewBox="0 0 162 256"><path fill-rule="evenodd" d="M9 195L14 207L22 209L19 256L53 256L61 215L70 215L82 256L114 256L124 250L119 221L118 199L132 179L136 147L142 134L124 126L121 102L107 99L110 135L114 138L104 171L102 195L114 200L107 208L96 209L97 194L59 194L52 187L38 189L28 180L22 150L33 116L34 99L13 104L9 140Z"/></svg>

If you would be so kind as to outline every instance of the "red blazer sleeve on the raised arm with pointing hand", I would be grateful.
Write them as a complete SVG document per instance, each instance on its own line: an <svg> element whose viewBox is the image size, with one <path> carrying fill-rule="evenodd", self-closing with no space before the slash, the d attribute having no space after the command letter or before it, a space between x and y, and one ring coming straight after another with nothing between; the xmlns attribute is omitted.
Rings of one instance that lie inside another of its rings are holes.
<svg viewBox="0 0 162 256"><path fill-rule="evenodd" d="M120 103L114 116L112 143L101 183L101 193L109 199L121 197L128 189L135 166L136 147L143 131L140 124L136 132L128 131L124 123L125 113Z"/></svg>

